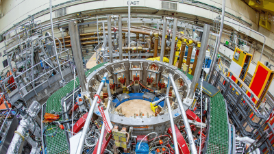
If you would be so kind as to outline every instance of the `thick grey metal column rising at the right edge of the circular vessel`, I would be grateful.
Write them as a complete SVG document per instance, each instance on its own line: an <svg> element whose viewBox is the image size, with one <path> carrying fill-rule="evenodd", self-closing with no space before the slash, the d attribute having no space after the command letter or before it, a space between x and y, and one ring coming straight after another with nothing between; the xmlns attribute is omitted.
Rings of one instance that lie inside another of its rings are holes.
<svg viewBox="0 0 274 154"><path fill-rule="evenodd" d="M190 86L190 92L188 94L189 99L193 99L196 84L198 83L198 80L200 79L201 75L201 68L203 68L203 61L206 57L206 48L208 47L208 37L210 36L210 25L205 24L203 26L203 38L201 40L201 47L200 47L200 53L198 57L198 62L196 66L196 71L193 75L192 83Z"/></svg>

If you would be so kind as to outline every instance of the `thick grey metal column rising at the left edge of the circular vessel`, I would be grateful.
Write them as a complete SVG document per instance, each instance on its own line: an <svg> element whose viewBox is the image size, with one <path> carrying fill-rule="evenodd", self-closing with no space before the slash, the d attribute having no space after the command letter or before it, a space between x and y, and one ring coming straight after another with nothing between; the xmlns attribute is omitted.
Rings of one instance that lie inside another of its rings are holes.
<svg viewBox="0 0 274 154"><path fill-rule="evenodd" d="M86 92L86 75L84 73L84 66L82 61L82 51L79 42L79 31L76 22L69 22L69 34L71 36L71 49L73 51L74 62L81 86L82 92Z"/></svg>

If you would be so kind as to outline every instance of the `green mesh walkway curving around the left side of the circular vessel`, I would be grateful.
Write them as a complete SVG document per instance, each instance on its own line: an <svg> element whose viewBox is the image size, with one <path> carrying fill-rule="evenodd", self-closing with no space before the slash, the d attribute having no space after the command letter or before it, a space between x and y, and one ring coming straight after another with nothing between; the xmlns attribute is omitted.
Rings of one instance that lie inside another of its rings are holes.
<svg viewBox="0 0 274 154"><path fill-rule="evenodd" d="M86 71L86 76L90 73L92 73L97 68L100 68L105 63L97 64L97 66L94 66L93 68L90 68L90 70ZM75 87L79 86L79 79L76 78L77 83L75 82ZM47 113L54 113L54 112L62 112L62 105L60 103L61 99L63 97L66 97L66 94L69 94L73 90L73 81L70 81L69 84L66 84L66 86L60 88L58 91L54 92L51 97L47 100L46 103L46 112ZM60 119L62 120L62 118ZM47 127L47 134L54 133L56 131L55 128L52 129L52 127L55 126L49 126ZM47 143L47 153L69 153L69 146L66 142L66 136L64 134L64 131L60 128L58 128L58 131L55 136L46 136L46 143Z"/></svg>

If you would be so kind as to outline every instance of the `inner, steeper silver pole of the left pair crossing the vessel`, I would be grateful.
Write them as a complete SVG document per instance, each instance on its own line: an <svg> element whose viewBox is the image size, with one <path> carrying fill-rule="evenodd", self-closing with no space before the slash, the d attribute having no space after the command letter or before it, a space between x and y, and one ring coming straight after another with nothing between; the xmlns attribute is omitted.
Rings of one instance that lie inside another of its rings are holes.
<svg viewBox="0 0 274 154"><path fill-rule="evenodd" d="M110 92L110 82L108 80L105 81L107 83L107 88L108 88L108 106L107 109L105 111L109 112L110 110L110 104L112 105L112 97L111 97L111 92ZM112 106L113 107L113 106ZM113 108L112 108L113 109ZM101 127L101 133L100 133L100 138L99 138L99 142L98 142L98 148L97 148L97 154L101 153L101 149L102 149L102 142L103 142L103 134L105 133L105 123L103 123L102 127Z"/></svg>

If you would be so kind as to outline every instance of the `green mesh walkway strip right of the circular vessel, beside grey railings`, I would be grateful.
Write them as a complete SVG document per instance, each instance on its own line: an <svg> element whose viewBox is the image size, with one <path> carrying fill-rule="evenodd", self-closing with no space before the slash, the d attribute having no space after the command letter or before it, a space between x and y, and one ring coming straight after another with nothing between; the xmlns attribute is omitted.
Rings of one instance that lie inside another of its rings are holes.
<svg viewBox="0 0 274 154"><path fill-rule="evenodd" d="M228 153L227 111L219 92L210 99L210 131L207 153Z"/></svg>

